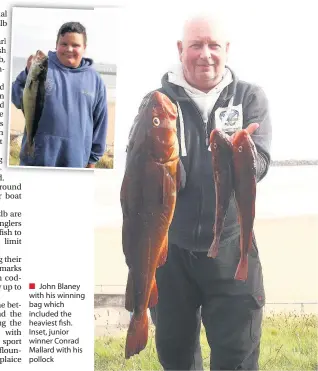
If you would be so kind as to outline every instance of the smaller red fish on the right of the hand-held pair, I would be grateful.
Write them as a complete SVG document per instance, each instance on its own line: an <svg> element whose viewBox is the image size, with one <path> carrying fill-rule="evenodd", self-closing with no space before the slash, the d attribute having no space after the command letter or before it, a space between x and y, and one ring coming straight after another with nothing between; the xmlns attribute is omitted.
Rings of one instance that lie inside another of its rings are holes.
<svg viewBox="0 0 318 371"><path fill-rule="evenodd" d="M252 233L256 200L257 150L247 130L236 133L233 139L235 199L240 222L241 258L235 273L236 280L247 279L248 253L252 249Z"/></svg>

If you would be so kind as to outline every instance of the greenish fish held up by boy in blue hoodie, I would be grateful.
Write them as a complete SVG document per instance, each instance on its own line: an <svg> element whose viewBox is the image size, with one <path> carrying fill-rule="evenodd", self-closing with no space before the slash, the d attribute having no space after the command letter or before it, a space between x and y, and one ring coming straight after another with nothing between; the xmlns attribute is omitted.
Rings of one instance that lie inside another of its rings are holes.
<svg viewBox="0 0 318 371"><path fill-rule="evenodd" d="M38 129L45 100L48 57L40 50L32 58L23 90L22 111L27 133L27 153L34 153L34 137Z"/></svg>

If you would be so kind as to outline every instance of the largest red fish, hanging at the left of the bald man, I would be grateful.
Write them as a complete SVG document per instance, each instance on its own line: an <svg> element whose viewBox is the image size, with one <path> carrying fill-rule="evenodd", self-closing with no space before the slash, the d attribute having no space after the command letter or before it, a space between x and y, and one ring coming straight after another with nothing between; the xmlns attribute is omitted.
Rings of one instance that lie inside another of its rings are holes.
<svg viewBox="0 0 318 371"><path fill-rule="evenodd" d="M125 308L133 312L125 358L140 353L148 341L147 309L158 302L156 269L168 251L168 229L179 189L177 108L152 92L131 131L121 187L122 243L129 268Z"/></svg>

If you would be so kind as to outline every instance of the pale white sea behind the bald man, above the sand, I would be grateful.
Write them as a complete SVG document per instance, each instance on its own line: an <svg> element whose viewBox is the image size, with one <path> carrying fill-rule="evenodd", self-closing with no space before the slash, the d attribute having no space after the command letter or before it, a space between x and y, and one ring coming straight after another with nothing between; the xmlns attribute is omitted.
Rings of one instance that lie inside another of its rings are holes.
<svg viewBox="0 0 318 371"><path fill-rule="evenodd" d="M95 172L95 226L122 223L119 190L123 173ZM257 184L256 219L318 216L318 166L272 166Z"/></svg>

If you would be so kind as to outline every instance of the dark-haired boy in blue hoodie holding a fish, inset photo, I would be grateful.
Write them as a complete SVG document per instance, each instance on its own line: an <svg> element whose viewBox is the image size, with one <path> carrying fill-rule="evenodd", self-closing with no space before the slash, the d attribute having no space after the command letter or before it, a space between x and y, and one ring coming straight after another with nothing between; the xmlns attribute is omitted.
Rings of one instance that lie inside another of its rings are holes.
<svg viewBox="0 0 318 371"><path fill-rule="evenodd" d="M22 166L93 168L106 149L106 87L90 58L79 22L61 26L56 52L38 50L12 84L22 109Z"/></svg>

